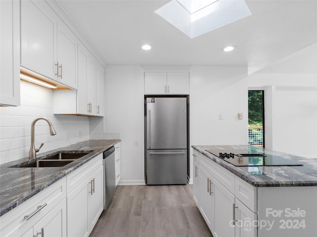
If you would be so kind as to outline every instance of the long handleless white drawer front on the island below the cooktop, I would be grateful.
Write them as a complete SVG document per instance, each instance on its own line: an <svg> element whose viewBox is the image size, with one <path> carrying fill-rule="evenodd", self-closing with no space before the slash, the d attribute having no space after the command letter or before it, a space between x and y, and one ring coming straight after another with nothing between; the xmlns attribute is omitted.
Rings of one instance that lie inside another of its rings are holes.
<svg viewBox="0 0 317 237"><path fill-rule="evenodd" d="M221 167L210 158L199 153L200 165L206 169L220 184L228 189L232 194L235 193L235 175Z"/></svg>

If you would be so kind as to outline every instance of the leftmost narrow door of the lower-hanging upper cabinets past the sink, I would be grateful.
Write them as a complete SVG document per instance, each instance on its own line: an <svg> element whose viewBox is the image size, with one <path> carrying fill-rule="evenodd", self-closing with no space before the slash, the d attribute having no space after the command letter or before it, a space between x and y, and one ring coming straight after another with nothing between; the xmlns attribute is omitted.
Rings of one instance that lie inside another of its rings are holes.
<svg viewBox="0 0 317 237"><path fill-rule="evenodd" d="M78 89L77 113L88 115L90 106L87 102L87 63L88 55L80 46L78 47Z"/></svg>

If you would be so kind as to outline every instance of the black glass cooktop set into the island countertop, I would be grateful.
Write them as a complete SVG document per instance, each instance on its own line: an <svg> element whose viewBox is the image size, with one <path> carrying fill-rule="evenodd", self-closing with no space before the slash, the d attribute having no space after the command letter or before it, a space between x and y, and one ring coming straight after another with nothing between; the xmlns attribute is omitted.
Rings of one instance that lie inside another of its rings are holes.
<svg viewBox="0 0 317 237"><path fill-rule="evenodd" d="M223 160L235 165L235 166L294 166L303 165L302 163L286 159L279 156L265 155L264 153L258 153L258 151L248 150L206 150L212 155L222 158Z"/></svg>

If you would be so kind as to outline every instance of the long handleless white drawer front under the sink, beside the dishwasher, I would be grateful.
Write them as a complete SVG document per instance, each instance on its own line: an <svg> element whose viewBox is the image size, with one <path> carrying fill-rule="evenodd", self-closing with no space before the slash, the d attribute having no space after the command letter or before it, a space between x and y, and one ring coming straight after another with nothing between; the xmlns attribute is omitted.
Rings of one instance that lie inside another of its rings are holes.
<svg viewBox="0 0 317 237"><path fill-rule="evenodd" d="M87 179L95 170L103 164L103 154L89 160L75 171L66 176L67 179L67 195Z"/></svg>

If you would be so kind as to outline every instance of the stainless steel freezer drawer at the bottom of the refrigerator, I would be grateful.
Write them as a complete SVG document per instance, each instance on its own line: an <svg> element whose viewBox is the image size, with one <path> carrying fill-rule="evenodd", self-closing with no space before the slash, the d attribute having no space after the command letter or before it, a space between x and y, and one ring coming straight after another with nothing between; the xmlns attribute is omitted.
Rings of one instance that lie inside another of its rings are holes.
<svg viewBox="0 0 317 237"><path fill-rule="evenodd" d="M147 150L147 184L186 184L187 149Z"/></svg>

